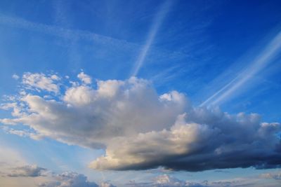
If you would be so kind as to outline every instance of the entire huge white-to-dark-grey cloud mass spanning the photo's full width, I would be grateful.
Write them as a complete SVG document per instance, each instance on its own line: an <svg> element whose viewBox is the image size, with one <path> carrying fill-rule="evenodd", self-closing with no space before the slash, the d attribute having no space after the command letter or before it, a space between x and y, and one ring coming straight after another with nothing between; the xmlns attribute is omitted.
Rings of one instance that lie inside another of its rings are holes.
<svg viewBox="0 0 281 187"><path fill-rule="evenodd" d="M254 113L197 108L183 93L158 95L141 78L92 85L84 72L77 77L80 81L63 84L55 74L24 74L20 95L1 106L12 109L13 118L1 123L6 128L27 125L30 131L22 133L34 139L105 148L106 154L91 162L94 169L163 166L202 171L281 165L280 123L262 123Z"/></svg>

